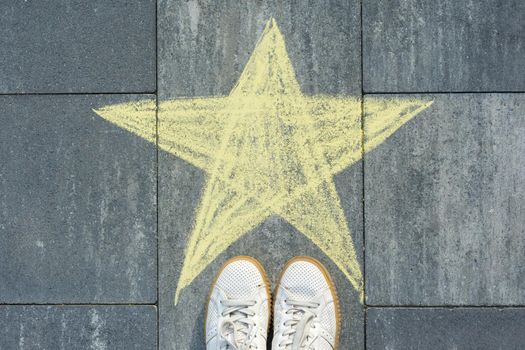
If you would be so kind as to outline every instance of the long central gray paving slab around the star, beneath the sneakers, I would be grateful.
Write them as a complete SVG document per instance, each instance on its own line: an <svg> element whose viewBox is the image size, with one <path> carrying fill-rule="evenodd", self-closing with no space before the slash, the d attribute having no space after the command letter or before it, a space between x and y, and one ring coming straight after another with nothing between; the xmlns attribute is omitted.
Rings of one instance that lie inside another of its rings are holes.
<svg viewBox="0 0 525 350"><path fill-rule="evenodd" d="M159 2L159 98L229 94L271 16L284 34L303 92L360 92L358 1L170 0ZM208 290L229 257L259 259L275 285L285 262L305 254L323 261L336 281L344 313L341 348L362 349L364 312L357 293L329 258L278 216L233 243L182 292L174 306L184 250L205 181L200 169L160 152L160 349L205 349ZM338 174L335 182L361 261L361 163Z"/></svg>

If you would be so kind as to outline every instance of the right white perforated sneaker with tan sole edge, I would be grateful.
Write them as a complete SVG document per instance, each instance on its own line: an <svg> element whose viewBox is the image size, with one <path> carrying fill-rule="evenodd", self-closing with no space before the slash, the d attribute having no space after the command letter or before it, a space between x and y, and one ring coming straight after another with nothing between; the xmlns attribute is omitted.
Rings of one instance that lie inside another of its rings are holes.
<svg viewBox="0 0 525 350"><path fill-rule="evenodd" d="M326 268L299 256L277 285L272 349L334 350L339 343L339 300Z"/></svg>

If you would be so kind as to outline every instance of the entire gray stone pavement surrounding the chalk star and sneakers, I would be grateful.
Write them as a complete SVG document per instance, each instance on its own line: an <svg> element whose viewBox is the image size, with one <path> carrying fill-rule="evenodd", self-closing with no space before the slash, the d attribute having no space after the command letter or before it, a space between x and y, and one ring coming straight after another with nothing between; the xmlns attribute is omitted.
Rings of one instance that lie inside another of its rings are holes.
<svg viewBox="0 0 525 350"><path fill-rule="evenodd" d="M305 94L358 95L361 5L365 92L525 91L520 0L158 0L158 81L155 0L3 1L0 94L50 95L0 96L0 349L149 350L159 332L160 350L202 350L210 283L239 254L274 286L289 258L320 259L342 302L341 349L523 348L521 307L455 307L525 305L518 93L425 95L433 106L334 177L367 301L385 306L368 308L366 342L346 277L276 215L174 305L207 175L164 151L157 164L155 145L92 112L155 96L93 93L228 95L274 17ZM157 283L158 315L131 305L155 303Z"/></svg>

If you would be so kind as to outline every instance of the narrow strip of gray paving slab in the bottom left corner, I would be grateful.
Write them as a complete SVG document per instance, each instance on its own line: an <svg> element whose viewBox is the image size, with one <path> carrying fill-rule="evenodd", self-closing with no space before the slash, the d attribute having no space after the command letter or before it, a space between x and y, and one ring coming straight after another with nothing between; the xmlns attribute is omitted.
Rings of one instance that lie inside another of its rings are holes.
<svg viewBox="0 0 525 350"><path fill-rule="evenodd" d="M154 306L0 306L0 349L153 350Z"/></svg>

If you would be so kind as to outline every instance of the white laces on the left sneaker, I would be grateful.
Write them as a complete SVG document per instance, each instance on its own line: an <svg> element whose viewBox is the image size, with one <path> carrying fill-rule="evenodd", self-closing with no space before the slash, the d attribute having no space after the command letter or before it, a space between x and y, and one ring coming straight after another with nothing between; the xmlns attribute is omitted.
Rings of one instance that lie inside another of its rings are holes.
<svg viewBox="0 0 525 350"><path fill-rule="evenodd" d="M226 347L221 349L255 349L250 344L251 333L255 326L253 320L255 312L250 307L256 302L253 300L223 300L221 304L226 307L222 312L222 317L225 319L219 327L219 335Z"/></svg>

